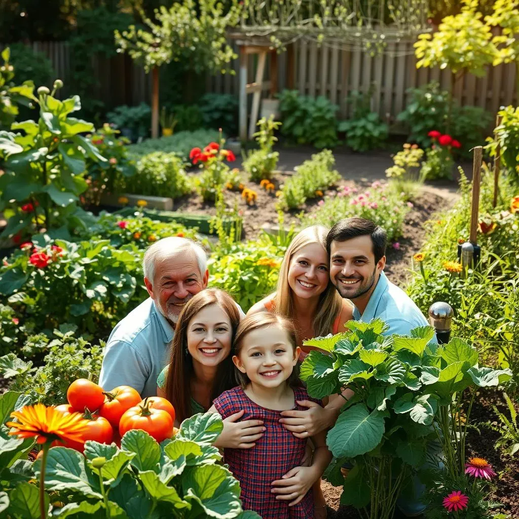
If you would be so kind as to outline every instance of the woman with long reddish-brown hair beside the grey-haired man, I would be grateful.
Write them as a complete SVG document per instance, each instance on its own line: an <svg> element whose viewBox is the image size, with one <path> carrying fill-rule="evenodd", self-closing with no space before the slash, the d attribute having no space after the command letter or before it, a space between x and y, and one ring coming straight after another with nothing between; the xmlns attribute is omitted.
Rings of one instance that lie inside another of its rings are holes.
<svg viewBox="0 0 519 519"><path fill-rule="evenodd" d="M175 408L175 426L196 413L205 413L223 391L236 386L231 347L240 314L223 290L194 295L180 313L171 344L170 363L157 379L157 395ZM261 438L261 420L237 421L243 412L224 420L217 447L250 448Z"/></svg>

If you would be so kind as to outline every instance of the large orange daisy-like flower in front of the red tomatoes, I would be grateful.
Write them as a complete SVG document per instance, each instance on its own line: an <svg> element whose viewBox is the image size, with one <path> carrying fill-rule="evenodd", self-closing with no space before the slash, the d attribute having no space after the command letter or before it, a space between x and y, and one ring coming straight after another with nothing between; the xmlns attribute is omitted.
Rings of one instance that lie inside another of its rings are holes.
<svg viewBox="0 0 519 519"><path fill-rule="evenodd" d="M7 427L14 430L9 434L19 438L36 436L37 443L54 440L70 440L83 443L83 433L86 431L87 420L80 413L64 415L55 407L44 404L26 405L19 411L11 413L18 422L7 422Z"/></svg>

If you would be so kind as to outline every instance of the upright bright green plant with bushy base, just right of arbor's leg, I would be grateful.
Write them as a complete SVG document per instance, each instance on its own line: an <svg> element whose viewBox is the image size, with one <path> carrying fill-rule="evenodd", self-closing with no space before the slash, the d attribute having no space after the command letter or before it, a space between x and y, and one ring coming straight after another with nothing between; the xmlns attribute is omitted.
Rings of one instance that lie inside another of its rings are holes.
<svg viewBox="0 0 519 519"><path fill-rule="evenodd" d="M264 179L270 180L272 172L276 169L279 153L272 152L272 146L278 140L274 132L281 126L281 122L276 122L274 116L268 119L262 117L257 126L260 127L254 137L260 145L260 149L255 149L247 154L243 159L243 169L249 173L250 180L261 182Z"/></svg>

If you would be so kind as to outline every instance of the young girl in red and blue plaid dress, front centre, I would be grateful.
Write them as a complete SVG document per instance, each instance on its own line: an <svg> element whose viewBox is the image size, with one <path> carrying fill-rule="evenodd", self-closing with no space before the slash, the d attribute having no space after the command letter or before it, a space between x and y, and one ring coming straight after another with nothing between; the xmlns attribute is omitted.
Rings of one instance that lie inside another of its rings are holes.
<svg viewBox="0 0 519 519"><path fill-rule="evenodd" d="M224 449L224 461L240 482L244 510L263 519L311 519L309 490L332 459L323 431L312 438L312 466L299 466L306 439L279 422L281 411L299 408L297 400L312 400L298 378L296 340L289 319L268 312L246 317L238 326L233 356L240 386L224 391L209 409L222 418L245 409L244 419L264 422L266 431L253 448Z"/></svg>

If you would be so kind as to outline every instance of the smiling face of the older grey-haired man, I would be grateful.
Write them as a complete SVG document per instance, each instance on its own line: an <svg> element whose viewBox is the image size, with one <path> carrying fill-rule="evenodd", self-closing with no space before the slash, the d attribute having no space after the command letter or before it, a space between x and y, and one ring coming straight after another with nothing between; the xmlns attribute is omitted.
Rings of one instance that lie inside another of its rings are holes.
<svg viewBox="0 0 519 519"><path fill-rule="evenodd" d="M206 288L208 277L207 271L201 274L193 253L179 251L158 261L153 282L147 278L144 282L160 313L174 325L189 299Z"/></svg>

